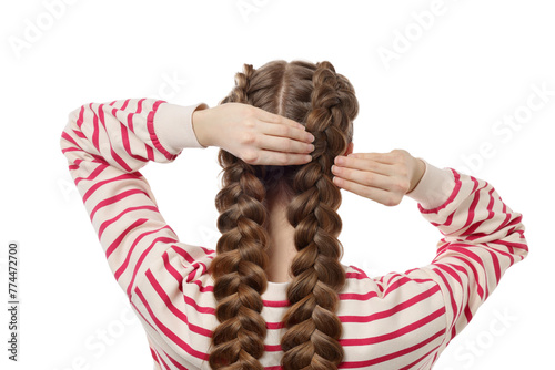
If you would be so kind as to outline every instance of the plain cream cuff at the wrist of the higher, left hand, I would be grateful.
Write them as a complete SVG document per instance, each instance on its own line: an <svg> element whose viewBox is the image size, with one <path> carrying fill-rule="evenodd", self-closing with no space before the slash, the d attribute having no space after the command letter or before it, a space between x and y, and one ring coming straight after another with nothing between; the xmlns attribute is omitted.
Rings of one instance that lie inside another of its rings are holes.
<svg viewBox="0 0 555 370"><path fill-rule="evenodd" d="M208 107L205 103L188 106L161 104L154 115L154 132L160 144L172 154L179 154L185 147L206 148L196 140L192 116L196 109Z"/></svg>

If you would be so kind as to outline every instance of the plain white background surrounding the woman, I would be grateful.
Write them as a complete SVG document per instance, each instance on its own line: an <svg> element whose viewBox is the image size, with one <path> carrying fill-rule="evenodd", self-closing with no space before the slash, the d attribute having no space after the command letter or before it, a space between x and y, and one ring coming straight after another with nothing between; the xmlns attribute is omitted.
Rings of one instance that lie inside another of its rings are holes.
<svg viewBox="0 0 555 370"><path fill-rule="evenodd" d="M69 112L129 97L214 106L243 63L274 59L329 60L350 79L361 104L355 153L404 148L486 179L523 214L528 257L507 270L434 369L553 366L552 4L3 1L0 295L6 307L8 243L18 240L21 341L20 362L8 361L2 309L0 367L152 369L143 329L108 268L59 146ZM534 86L546 91L543 100ZM522 123L500 125L504 117ZM141 169L180 239L211 248L219 236L216 154L185 150L174 163ZM343 264L380 276L433 259L442 235L415 201L385 207L342 194Z"/></svg>

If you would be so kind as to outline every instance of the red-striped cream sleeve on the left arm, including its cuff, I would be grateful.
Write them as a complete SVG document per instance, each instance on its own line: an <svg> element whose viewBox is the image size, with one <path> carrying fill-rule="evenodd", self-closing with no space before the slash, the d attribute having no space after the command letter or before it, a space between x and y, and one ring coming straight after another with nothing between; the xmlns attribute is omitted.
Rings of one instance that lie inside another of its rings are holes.
<svg viewBox="0 0 555 370"><path fill-rule="evenodd" d="M110 269L129 298L149 265L170 247L190 261L211 253L179 243L139 172L149 161L174 161L184 147L204 148L191 120L196 109L206 107L130 99L85 104L69 114L60 146Z"/></svg>

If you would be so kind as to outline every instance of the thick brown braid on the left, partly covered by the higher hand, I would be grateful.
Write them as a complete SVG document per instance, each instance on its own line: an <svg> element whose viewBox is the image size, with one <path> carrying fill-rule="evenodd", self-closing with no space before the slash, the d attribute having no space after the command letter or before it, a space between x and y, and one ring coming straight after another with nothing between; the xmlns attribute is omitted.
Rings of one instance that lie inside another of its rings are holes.
<svg viewBox="0 0 555 370"><path fill-rule="evenodd" d="M238 74L233 101L248 103L246 90L252 73L251 66L245 74ZM266 326L260 315L261 294L268 285L264 273L268 233L261 226L268 217L261 203L265 191L251 165L225 151L220 151L218 160L224 168L223 188L215 198L220 212L218 229L222 236L210 270L218 301L215 315L221 323L212 335L214 349L209 361L212 369L263 370L258 359L264 353L266 336Z"/></svg>

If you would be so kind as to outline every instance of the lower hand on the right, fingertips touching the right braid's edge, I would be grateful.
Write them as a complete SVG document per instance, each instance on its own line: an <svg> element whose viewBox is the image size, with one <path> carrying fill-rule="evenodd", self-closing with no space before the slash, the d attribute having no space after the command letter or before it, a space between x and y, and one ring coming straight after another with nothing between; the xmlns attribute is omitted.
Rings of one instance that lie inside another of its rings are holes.
<svg viewBox="0 0 555 370"><path fill-rule="evenodd" d="M426 169L422 160L404 150L339 155L334 163L335 185L390 207L416 187Z"/></svg>

